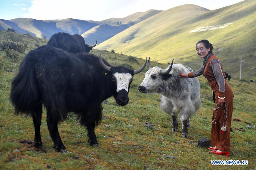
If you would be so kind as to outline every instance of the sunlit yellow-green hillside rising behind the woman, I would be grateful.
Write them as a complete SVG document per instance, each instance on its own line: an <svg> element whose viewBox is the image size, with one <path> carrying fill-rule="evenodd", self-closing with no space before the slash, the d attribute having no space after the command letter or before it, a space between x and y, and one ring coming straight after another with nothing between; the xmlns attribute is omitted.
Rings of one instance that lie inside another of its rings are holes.
<svg viewBox="0 0 256 170"><path fill-rule="evenodd" d="M196 55L195 44L198 40L208 39L214 44L214 54L232 77L239 77L239 59L242 57L243 78L255 79L255 4L255 1L242 1L195 15L191 15L194 6L183 5L180 10L175 7L124 30L96 48L114 49L140 58L150 56L162 63L175 58L176 62L198 69L202 60ZM233 24L223 29L189 33L197 27L230 22Z"/></svg>

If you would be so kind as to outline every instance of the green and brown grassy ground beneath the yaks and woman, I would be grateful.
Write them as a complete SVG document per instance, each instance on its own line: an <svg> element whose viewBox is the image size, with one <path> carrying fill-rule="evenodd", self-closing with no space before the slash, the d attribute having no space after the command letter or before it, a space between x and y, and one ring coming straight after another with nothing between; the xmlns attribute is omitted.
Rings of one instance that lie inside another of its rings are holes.
<svg viewBox="0 0 256 170"><path fill-rule="evenodd" d="M3 41L7 32L0 33L0 41ZM23 38L31 42L28 50L35 48L35 37ZM43 44L46 41L41 40L40 45ZM99 51L92 50L91 53L98 55ZM117 65L129 63L134 68L143 63L142 59L138 58L137 64L128 61L125 55L107 51L104 51L103 58L112 65L115 62ZM225 158L197 145L199 138L210 138L211 108L214 104L206 79L199 77L203 105L191 118L189 138L185 139L181 137L181 123L177 133L171 131L171 118L161 111L159 95L137 90L148 69L134 76L127 106L118 106L113 98L108 99L109 104L103 104L104 118L95 130L99 148L89 146L87 131L79 126L75 115L69 114L68 119L59 125L60 136L69 152L56 152L47 129L45 110L41 126L43 148L20 143L21 139L34 138L32 118L13 115L14 108L8 99L10 83L18 70L18 66L13 64L19 65L21 60L13 62L0 51L0 169L253 169L256 166L255 129L246 129L247 124L244 123L247 121L255 125L256 122L255 83L238 83L236 79L229 81L235 94L233 118L239 118L241 122L232 121L231 157ZM151 65L167 67L156 62ZM7 72L7 69L15 71ZM150 122L153 129L146 128L145 121ZM243 127L245 132L235 130L236 127ZM249 165L214 166L211 160L248 160Z"/></svg>

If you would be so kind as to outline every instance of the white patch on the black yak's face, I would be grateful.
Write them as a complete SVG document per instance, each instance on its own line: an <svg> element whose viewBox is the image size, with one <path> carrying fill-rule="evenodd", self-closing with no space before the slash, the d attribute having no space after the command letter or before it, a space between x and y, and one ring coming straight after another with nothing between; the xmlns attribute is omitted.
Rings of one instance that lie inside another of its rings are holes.
<svg viewBox="0 0 256 170"><path fill-rule="evenodd" d="M116 78L116 92L118 93L122 89L128 92L128 87L130 80L132 79L132 75L129 73L114 73L113 75Z"/></svg>

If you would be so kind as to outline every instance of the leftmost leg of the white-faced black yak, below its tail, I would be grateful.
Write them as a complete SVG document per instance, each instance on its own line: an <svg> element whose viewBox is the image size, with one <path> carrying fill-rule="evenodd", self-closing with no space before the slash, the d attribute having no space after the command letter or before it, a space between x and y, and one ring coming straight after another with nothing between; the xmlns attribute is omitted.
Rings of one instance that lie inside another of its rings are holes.
<svg viewBox="0 0 256 170"><path fill-rule="evenodd" d="M33 123L35 128L34 147L40 148L42 146L42 139L40 134L40 126L42 119L42 104L35 107L32 112Z"/></svg>

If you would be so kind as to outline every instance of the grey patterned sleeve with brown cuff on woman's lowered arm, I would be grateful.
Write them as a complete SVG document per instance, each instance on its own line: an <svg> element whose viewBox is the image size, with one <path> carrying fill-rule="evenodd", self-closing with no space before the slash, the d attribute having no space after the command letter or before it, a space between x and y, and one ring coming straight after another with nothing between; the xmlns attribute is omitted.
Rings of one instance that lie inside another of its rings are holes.
<svg viewBox="0 0 256 170"><path fill-rule="evenodd" d="M213 74L216 78L216 81L219 85L219 96L225 96L225 79L221 70L220 61L216 59L211 60L211 66Z"/></svg>

